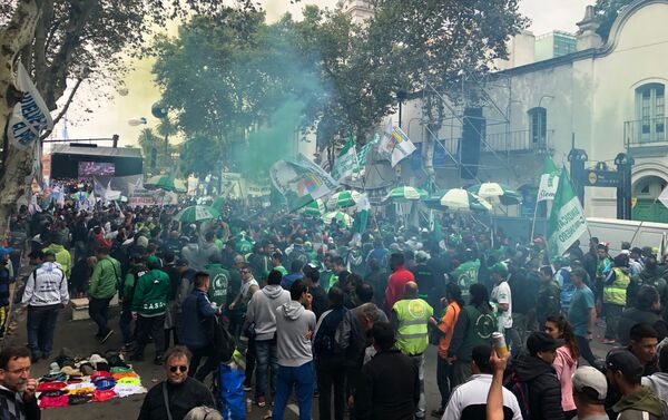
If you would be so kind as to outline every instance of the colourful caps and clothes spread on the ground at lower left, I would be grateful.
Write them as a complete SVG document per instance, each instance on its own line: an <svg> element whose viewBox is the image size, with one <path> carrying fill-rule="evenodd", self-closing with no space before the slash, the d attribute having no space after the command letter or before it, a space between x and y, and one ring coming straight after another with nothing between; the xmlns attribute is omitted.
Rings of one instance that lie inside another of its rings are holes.
<svg viewBox="0 0 668 420"><path fill-rule="evenodd" d="M141 378L122 355L107 352L78 359L63 349L50 372L38 379L39 407L66 407L146 393Z"/></svg>

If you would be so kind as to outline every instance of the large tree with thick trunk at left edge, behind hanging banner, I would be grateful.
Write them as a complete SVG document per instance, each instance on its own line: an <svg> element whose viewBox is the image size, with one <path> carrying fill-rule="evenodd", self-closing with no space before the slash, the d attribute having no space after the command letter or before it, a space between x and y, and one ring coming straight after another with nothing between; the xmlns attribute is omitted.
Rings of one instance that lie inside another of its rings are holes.
<svg viewBox="0 0 668 420"><path fill-rule="evenodd" d="M249 0L239 1L252 10ZM187 17L193 10L212 17L228 8L218 0L9 0L0 7L0 127L21 92L14 75L20 59L50 110L60 118L84 80L102 84L125 68L118 53L138 55L151 27ZM69 82L69 86L68 86ZM69 89L65 104L58 101ZM4 133L3 133L4 135ZM35 147L3 147L0 173L0 219L27 195L32 178Z"/></svg>

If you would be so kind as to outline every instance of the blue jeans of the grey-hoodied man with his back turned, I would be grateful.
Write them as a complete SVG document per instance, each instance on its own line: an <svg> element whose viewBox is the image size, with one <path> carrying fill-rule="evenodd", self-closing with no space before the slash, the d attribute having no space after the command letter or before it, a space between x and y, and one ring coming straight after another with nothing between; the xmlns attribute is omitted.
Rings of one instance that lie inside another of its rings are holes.
<svg viewBox="0 0 668 420"><path fill-rule="evenodd" d="M311 420L314 384L313 362L306 362L296 368L278 365L274 420L283 420L285 407L293 388L296 388L297 392L299 420Z"/></svg>

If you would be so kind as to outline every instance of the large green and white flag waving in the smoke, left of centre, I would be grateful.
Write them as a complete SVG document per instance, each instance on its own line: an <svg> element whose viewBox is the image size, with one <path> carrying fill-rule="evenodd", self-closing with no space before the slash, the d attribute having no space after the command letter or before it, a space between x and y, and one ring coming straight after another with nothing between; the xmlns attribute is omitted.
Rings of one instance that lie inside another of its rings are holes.
<svg viewBox="0 0 668 420"><path fill-rule="evenodd" d="M272 183L287 201L291 212L332 194L338 187L323 168L299 154L295 160L278 160L269 168Z"/></svg>

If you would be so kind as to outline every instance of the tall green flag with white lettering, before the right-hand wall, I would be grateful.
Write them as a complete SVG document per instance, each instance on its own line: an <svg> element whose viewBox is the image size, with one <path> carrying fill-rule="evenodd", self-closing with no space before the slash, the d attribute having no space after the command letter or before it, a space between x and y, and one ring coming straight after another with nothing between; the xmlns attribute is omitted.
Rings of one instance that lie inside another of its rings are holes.
<svg viewBox="0 0 668 420"><path fill-rule="evenodd" d="M563 168L548 221L548 247L551 256L563 255L586 232L584 211Z"/></svg>

